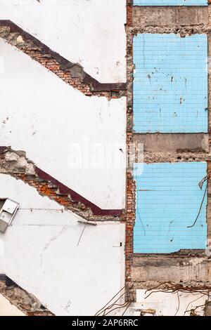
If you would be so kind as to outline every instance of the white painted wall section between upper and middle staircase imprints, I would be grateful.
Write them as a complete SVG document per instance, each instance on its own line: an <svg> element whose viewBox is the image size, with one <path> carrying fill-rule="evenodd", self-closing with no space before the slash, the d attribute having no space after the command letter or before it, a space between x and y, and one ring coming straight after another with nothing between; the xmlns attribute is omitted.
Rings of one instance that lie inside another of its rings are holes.
<svg viewBox="0 0 211 330"><path fill-rule="evenodd" d="M102 209L124 208L126 98L89 98L2 39L0 58L0 145Z"/></svg>

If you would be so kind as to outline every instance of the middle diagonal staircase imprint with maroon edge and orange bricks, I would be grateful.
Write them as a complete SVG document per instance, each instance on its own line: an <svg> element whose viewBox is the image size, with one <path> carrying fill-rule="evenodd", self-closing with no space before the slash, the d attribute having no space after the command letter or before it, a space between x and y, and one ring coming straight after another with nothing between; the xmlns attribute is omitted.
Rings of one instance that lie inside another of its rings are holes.
<svg viewBox="0 0 211 330"><path fill-rule="evenodd" d="M42 196L53 199L58 204L77 213L87 220L122 220L123 210L101 209L96 204L77 194L49 174L41 171L25 157L25 152L0 147L0 173L10 174L37 189Z"/></svg>

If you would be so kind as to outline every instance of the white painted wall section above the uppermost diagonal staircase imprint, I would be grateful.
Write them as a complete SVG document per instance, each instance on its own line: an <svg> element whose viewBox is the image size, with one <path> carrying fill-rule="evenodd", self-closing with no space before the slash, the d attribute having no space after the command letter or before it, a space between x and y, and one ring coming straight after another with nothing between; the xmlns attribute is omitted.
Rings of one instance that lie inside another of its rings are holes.
<svg viewBox="0 0 211 330"><path fill-rule="evenodd" d="M125 0L0 0L12 20L101 82L126 80Z"/></svg>

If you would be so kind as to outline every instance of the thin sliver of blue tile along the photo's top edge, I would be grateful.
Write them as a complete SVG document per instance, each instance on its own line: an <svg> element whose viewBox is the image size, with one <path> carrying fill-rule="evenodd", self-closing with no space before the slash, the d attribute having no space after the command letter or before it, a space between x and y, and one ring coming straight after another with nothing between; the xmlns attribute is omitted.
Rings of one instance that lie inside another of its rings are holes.
<svg viewBox="0 0 211 330"><path fill-rule="evenodd" d="M207 6L207 0L134 0L134 6Z"/></svg>

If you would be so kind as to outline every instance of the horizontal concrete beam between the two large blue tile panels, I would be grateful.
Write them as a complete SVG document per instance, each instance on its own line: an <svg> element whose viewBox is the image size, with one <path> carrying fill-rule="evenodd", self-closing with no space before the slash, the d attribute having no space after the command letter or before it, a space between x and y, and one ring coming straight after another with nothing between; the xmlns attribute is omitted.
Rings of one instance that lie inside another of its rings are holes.
<svg viewBox="0 0 211 330"><path fill-rule="evenodd" d="M134 142L143 143L144 152L209 152L209 136L191 134L134 134Z"/></svg>

